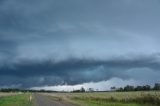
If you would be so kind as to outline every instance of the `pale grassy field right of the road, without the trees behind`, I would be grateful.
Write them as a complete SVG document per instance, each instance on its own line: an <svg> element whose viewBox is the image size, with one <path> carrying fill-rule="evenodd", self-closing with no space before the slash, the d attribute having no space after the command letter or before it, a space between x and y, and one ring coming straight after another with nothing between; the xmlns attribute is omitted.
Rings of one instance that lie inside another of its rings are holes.
<svg viewBox="0 0 160 106"><path fill-rule="evenodd" d="M77 106L160 106L160 92L50 93Z"/></svg>

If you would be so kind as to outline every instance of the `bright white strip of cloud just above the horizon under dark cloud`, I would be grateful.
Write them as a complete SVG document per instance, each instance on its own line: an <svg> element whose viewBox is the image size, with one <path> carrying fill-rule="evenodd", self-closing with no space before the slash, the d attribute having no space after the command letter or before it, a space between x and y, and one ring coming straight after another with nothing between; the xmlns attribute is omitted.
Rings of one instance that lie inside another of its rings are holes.
<svg viewBox="0 0 160 106"><path fill-rule="evenodd" d="M94 90L99 91L106 91L110 90L111 87L115 86L117 88L124 87L126 85L138 85L140 84L140 81L129 79L129 80L122 80L120 78L112 78L107 81L100 81L100 82L89 82L89 83L83 83L78 85L57 85L57 86L43 86L43 87L32 87L31 89L35 90L53 90L53 91L73 91L80 89L81 87L84 87L86 90L88 88L94 88Z"/></svg>

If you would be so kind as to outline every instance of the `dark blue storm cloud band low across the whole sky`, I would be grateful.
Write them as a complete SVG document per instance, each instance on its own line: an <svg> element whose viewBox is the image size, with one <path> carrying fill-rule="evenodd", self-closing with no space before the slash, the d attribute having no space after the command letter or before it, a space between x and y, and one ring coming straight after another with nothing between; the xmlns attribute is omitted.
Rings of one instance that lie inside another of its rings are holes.
<svg viewBox="0 0 160 106"><path fill-rule="evenodd" d="M2 81L0 84L20 84L21 87L66 83L74 85L90 81L108 80L113 77L122 79L137 78L135 73L141 73L145 78L148 76L146 72L160 73L160 63L155 58L157 57L108 61L71 59L59 63L52 61L37 61L36 63L23 61L9 66L7 64L2 66L0 68L0 79ZM158 80L157 77L153 79Z"/></svg>

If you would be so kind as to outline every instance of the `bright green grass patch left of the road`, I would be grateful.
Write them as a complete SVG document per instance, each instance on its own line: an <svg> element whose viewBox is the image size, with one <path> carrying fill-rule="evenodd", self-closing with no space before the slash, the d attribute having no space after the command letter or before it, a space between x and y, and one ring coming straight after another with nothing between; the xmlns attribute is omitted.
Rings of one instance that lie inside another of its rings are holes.
<svg viewBox="0 0 160 106"><path fill-rule="evenodd" d="M29 101L30 94L18 94L14 96L0 97L0 106L32 106Z"/></svg>

